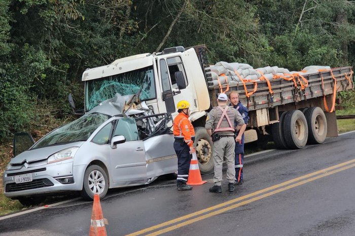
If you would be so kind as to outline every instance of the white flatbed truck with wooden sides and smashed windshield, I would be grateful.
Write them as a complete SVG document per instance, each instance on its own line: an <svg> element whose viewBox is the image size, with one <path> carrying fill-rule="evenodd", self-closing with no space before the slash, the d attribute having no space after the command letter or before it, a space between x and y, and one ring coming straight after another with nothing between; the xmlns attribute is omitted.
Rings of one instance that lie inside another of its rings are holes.
<svg viewBox="0 0 355 236"><path fill-rule="evenodd" d="M116 93L134 94L139 89L140 99L153 113L167 112L175 117L176 103L189 101L199 167L205 174L213 170L214 164L211 159L212 141L204 125L207 111L217 104L221 90L227 94L232 90L238 91L239 100L250 111L245 143L258 139L267 142L271 140L267 137L271 137L280 148L303 148L307 141L319 144L326 137L337 136L336 92L352 89L354 84L352 68L341 67L305 75L308 82L305 88L297 76L290 81L275 78L229 85L228 88L227 85L216 87L211 83L208 66L204 46L189 49L180 46L159 53L125 57L109 65L87 69L82 76L85 83L84 111L91 110ZM328 109L327 105L332 105L333 109Z"/></svg>

